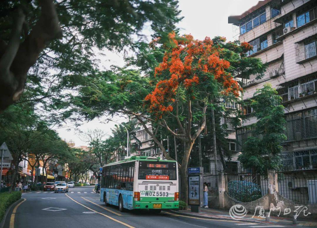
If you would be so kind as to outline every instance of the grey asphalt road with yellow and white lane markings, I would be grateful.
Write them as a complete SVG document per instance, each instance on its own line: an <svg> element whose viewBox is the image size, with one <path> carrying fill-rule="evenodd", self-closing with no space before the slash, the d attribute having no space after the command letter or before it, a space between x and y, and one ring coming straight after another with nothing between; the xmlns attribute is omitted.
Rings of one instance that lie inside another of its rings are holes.
<svg viewBox="0 0 317 228"><path fill-rule="evenodd" d="M119 212L118 207L99 201L94 186L69 188L69 192L23 193L26 199L8 213L4 227L10 228L87 228L87 227L278 227L245 222L198 219L162 211ZM15 210L15 211L14 211ZM12 213L13 212L13 213Z"/></svg>

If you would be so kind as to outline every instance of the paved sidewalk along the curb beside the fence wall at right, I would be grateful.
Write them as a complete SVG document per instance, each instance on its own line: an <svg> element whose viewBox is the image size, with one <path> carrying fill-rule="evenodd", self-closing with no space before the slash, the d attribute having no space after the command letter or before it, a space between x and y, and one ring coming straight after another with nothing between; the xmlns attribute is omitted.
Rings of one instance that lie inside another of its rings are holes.
<svg viewBox="0 0 317 228"><path fill-rule="evenodd" d="M189 206L190 208L190 206ZM186 216L192 216L192 217L198 217L198 218L206 218L206 219L223 219L223 220L234 220L229 215L229 210L219 210L219 209L213 209L213 208L201 208L201 212L195 213L191 212L191 209L188 210L179 210L179 211L173 211L174 213L186 215ZM315 220L304 220L304 219L297 219L297 225L293 225L291 218L286 217L277 217L277 216L270 216L270 221L266 222L265 218L259 218L257 216L254 216L252 218L253 214L247 214L243 219L239 221L243 222L252 222L252 223L262 223L267 225L288 225L288 226L310 226L310 227L317 227L317 221Z"/></svg>

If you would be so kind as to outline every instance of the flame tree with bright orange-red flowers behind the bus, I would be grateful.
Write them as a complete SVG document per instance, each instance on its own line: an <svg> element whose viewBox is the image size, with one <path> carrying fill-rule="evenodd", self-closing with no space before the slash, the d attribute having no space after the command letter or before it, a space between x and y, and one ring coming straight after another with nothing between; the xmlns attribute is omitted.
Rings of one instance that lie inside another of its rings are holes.
<svg viewBox="0 0 317 228"><path fill-rule="evenodd" d="M187 202L186 169L195 140L206 129L207 112L213 113L221 98L240 96L242 88L234 76L261 76L265 67L259 59L245 57L252 48L248 43L226 42L223 37L195 40L175 33L169 34L167 44L159 41L154 39L147 53L128 60L146 76L126 68L87 76L87 85L70 104L86 119L104 114L134 116L167 159L173 160L162 143L162 131L181 140L185 147L179 164L180 197Z"/></svg>

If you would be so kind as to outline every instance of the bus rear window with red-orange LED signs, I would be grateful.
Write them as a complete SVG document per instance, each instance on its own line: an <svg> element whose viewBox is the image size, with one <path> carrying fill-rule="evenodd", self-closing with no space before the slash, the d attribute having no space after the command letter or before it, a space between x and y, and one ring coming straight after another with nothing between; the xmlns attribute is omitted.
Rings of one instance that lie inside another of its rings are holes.
<svg viewBox="0 0 317 228"><path fill-rule="evenodd" d="M139 180L176 180L176 162L139 162Z"/></svg>

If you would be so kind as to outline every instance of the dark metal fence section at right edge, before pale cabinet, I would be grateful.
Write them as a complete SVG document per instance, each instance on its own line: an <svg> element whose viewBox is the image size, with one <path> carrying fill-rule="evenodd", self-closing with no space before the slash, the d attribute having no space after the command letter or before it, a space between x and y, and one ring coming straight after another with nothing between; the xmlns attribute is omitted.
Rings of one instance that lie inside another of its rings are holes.
<svg viewBox="0 0 317 228"><path fill-rule="evenodd" d="M317 204L317 169L294 170L284 167L278 174L279 193L303 204Z"/></svg>

